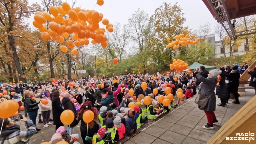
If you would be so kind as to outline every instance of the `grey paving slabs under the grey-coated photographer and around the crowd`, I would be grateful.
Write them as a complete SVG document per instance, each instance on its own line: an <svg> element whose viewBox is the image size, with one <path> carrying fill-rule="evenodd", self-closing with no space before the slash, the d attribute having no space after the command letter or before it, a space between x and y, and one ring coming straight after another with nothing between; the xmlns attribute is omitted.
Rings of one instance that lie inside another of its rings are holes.
<svg viewBox="0 0 256 144"><path fill-rule="evenodd" d="M205 144L210 138L223 126L246 102L254 96L254 89L246 89L246 92L241 92L240 104L232 104L229 101L228 106L216 106L216 117L220 122L214 125L213 130L203 129L206 125L207 118L202 110L198 109L197 104L194 103L194 97L186 100L180 104L178 108L173 109L171 113L161 116L156 122L146 124L137 130L132 136L126 136L118 143L125 144ZM216 97L217 98L217 97ZM216 104L220 103L217 98ZM24 111L22 111L24 114ZM28 117L27 117L28 118ZM52 114L51 114L52 118ZM16 122L16 121L15 121ZM26 130L24 122L16 122L20 124L21 130ZM40 144L42 142L50 141L52 135L55 133L55 126L50 125L43 128L43 124L37 124L41 131L34 134L30 138L32 144ZM80 135L80 124L73 130L73 134ZM81 144L82 138L78 140Z"/></svg>

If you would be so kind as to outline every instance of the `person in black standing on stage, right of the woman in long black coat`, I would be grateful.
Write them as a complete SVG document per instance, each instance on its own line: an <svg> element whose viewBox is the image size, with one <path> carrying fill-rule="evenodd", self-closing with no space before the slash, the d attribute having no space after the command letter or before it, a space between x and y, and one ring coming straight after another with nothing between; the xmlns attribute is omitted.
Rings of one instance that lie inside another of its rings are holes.
<svg viewBox="0 0 256 144"><path fill-rule="evenodd" d="M229 81L228 82L229 94L233 93L236 98L236 101L233 102L233 104L240 104L239 99L238 99L238 97L239 97L238 86L239 86L239 78L240 78L238 66L233 66L232 71L226 77L227 77L227 80Z"/></svg>

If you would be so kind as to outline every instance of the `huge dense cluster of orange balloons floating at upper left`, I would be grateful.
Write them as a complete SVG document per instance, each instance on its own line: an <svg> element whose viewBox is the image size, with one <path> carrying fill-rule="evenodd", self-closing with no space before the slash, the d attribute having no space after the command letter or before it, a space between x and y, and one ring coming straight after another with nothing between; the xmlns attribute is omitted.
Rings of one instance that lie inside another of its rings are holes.
<svg viewBox="0 0 256 144"><path fill-rule="evenodd" d="M98 5L103 5L103 0L97 0ZM105 36L105 28L100 28L99 22L106 26L108 32L113 32L113 24L108 19L103 19L103 14L95 10L84 10L79 7L71 8L67 2L62 6L51 6L50 14L47 12L35 12L33 25L38 28L43 40L54 40L64 43L66 46L60 46L62 52L68 52L68 48L74 46L88 45L89 38L92 44L101 44L106 48L108 38ZM68 16L67 16L68 15ZM49 29L43 24L48 21ZM68 40L72 38L72 40ZM67 48L68 47L68 48ZM76 55L77 50L72 50L71 54Z"/></svg>

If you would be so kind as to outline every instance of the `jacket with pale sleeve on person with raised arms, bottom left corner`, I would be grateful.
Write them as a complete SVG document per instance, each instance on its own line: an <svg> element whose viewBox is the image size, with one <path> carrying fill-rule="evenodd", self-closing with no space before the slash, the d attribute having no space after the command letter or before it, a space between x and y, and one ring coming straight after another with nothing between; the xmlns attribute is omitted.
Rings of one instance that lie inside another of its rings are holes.
<svg viewBox="0 0 256 144"><path fill-rule="evenodd" d="M21 131L20 127L17 127L17 124L2 130L0 144L30 144L30 138L36 133L36 126L32 120L26 121L25 126L28 130Z"/></svg>

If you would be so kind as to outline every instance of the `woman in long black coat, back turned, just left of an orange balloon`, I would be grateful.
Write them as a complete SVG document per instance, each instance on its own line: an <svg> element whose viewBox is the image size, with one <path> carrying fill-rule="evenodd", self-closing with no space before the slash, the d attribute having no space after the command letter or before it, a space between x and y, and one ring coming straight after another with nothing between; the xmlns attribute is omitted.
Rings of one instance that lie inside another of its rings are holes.
<svg viewBox="0 0 256 144"><path fill-rule="evenodd" d="M60 114L63 112L63 108L61 107L59 91L54 90L52 93L52 117L53 124L56 125L55 131L60 127L64 126L60 120Z"/></svg>

